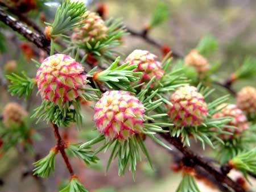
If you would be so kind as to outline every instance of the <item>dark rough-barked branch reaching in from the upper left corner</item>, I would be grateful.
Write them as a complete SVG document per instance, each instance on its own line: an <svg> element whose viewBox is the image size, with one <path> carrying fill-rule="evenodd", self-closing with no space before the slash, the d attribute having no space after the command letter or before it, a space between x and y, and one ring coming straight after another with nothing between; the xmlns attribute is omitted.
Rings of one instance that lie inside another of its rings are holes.
<svg viewBox="0 0 256 192"><path fill-rule="evenodd" d="M34 43L38 48L43 49L48 54L50 53L50 42L44 35L31 31L25 24L18 22L18 20L13 16L6 14L2 8L0 8L0 20L7 24L7 26L11 27L14 31L26 37L27 40Z"/></svg>

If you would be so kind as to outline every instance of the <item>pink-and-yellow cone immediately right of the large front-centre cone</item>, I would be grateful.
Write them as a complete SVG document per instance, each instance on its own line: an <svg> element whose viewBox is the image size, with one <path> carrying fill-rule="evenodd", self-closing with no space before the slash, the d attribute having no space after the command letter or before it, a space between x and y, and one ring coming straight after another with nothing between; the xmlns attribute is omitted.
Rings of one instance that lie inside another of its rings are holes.
<svg viewBox="0 0 256 192"><path fill-rule="evenodd" d="M207 103L196 87L179 87L170 98L172 107L167 112L175 127L199 126L207 118Z"/></svg>

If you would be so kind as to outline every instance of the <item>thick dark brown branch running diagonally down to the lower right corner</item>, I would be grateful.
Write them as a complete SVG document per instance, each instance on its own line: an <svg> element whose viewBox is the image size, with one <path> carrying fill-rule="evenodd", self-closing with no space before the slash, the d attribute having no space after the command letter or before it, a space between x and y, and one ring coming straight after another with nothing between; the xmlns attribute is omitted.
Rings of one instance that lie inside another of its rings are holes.
<svg viewBox="0 0 256 192"><path fill-rule="evenodd" d="M211 174L223 186L227 185L236 192L245 192L245 190L240 185L238 185L238 183L234 182L232 179L226 176L226 174L223 174L220 170L214 167L214 165L209 164L209 162L205 161L203 157L196 155L187 147L183 147L183 143L181 143L179 138L171 137L169 133L159 133L159 134L160 136L163 137L164 140L174 145L175 148L177 148L181 153L183 153L184 157L191 158L191 160L193 161L193 164L203 168L206 172Z"/></svg>

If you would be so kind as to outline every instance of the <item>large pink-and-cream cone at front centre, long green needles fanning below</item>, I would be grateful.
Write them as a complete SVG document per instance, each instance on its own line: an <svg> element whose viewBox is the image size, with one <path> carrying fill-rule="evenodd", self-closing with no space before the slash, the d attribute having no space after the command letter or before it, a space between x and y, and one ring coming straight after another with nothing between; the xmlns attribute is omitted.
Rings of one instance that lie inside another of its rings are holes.
<svg viewBox="0 0 256 192"><path fill-rule="evenodd" d="M143 128L143 104L127 91L106 91L94 107L96 127L106 138L127 140Z"/></svg>

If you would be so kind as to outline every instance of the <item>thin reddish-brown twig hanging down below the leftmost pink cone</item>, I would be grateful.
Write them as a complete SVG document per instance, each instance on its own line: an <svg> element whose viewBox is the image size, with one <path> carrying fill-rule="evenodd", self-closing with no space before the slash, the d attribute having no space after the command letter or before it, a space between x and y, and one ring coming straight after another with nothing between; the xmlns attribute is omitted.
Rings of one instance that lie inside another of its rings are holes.
<svg viewBox="0 0 256 192"><path fill-rule="evenodd" d="M52 123L52 122L51 122ZM71 177L75 176L75 173L73 172L73 168L69 162L68 156L65 152L65 148L67 148L67 143L61 138L60 133L59 133L59 127L57 127L56 124L52 123L53 131L54 131L54 136L56 138L57 144L56 147L60 151L61 156L63 157L65 164L68 168L69 174Z"/></svg>

